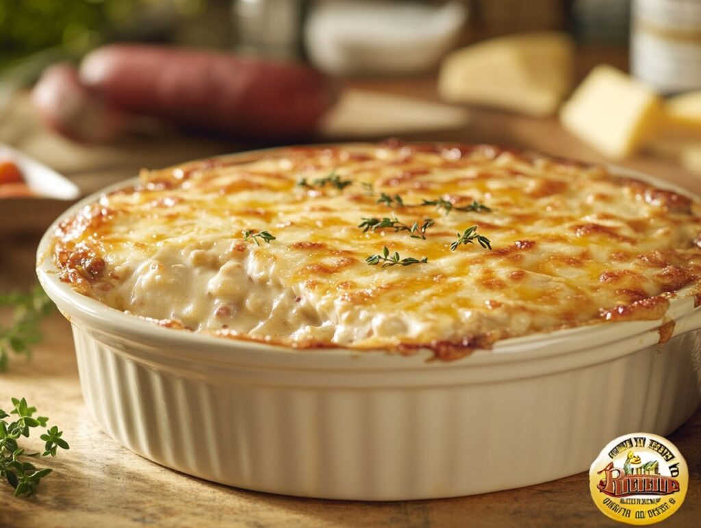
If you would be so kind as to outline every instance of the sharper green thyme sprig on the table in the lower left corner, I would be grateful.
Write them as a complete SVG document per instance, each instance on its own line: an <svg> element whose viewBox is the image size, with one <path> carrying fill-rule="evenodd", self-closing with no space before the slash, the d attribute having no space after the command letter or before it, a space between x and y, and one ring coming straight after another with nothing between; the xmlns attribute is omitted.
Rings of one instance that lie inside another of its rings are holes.
<svg viewBox="0 0 701 528"><path fill-rule="evenodd" d="M43 440L44 451L27 453L18 445L18 439L29 437L30 428L46 428L47 417L34 417L36 407L29 407L27 400L12 398L13 410L10 414L0 409L0 478L15 489L15 497L36 493L36 488L42 478L51 473L50 468L36 468L33 463L22 461L28 456L56 456L57 449L69 449L68 442L61 438L62 431L56 426L50 427L46 433L40 435ZM15 421L6 421L12 414L17 415Z"/></svg>

